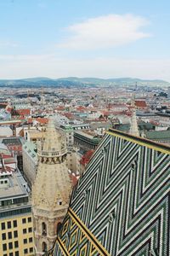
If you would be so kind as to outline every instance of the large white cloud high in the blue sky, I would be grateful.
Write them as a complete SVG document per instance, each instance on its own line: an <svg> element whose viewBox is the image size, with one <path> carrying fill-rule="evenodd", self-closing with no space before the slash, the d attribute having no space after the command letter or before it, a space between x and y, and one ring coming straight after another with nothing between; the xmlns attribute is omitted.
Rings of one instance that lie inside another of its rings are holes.
<svg viewBox="0 0 170 256"><path fill-rule="evenodd" d="M61 44L68 49L107 49L150 37L141 28L148 20L135 15L106 15L67 27L71 35Z"/></svg>

